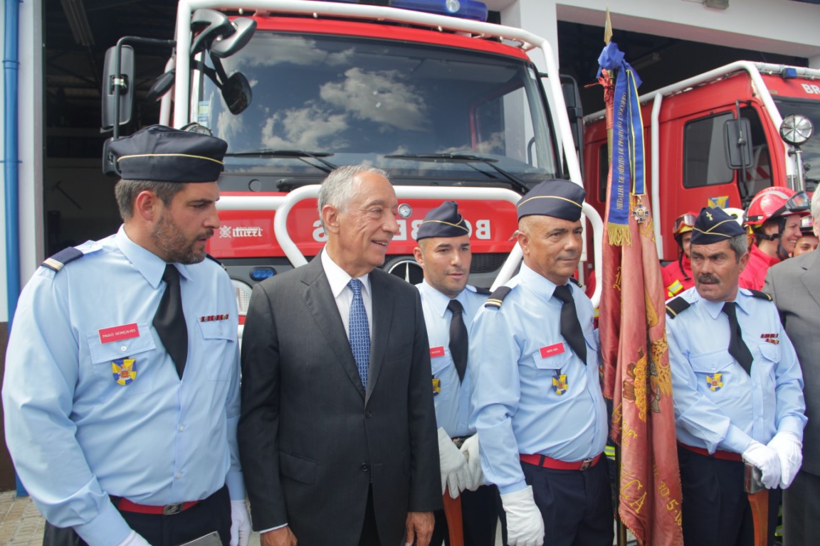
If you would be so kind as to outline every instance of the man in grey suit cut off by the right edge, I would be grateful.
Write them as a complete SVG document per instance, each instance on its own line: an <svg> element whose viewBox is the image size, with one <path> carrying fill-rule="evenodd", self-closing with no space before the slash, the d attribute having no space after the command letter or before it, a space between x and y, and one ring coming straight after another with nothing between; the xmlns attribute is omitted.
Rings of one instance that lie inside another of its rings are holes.
<svg viewBox="0 0 820 546"><path fill-rule="evenodd" d="M820 233L820 192L812 197L814 233ZM820 237L820 235L818 235ZM763 291L780 311L803 370L806 417L803 466L783 491L786 546L817 544L820 535L820 250L786 259L769 268Z"/></svg>

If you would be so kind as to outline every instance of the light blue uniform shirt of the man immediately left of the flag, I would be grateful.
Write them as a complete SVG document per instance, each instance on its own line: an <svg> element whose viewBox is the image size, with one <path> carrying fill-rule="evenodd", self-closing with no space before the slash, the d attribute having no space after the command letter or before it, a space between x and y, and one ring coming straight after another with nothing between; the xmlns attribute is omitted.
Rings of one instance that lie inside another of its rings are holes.
<svg viewBox="0 0 820 546"><path fill-rule="evenodd" d="M590 299L570 284L585 365L561 336L555 284L522 264L506 286L512 291L501 307L482 308L472 323L469 367L481 468L501 494L526 487L519 453L581 461L601 453L608 434ZM561 395L553 387L557 375L567 379Z"/></svg>

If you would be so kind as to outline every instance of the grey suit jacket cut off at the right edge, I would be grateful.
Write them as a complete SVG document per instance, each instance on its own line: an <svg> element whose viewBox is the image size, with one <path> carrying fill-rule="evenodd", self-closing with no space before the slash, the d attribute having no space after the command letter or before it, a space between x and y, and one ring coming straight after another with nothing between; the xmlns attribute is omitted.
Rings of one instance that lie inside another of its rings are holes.
<svg viewBox="0 0 820 546"><path fill-rule="evenodd" d="M820 476L820 250L772 265L763 291L772 295L803 370L809 421L801 470Z"/></svg>

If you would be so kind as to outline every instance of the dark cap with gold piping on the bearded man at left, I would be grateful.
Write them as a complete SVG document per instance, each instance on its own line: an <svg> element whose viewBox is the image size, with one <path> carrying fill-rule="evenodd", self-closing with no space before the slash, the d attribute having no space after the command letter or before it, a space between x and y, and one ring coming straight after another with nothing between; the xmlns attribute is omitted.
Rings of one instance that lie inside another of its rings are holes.
<svg viewBox="0 0 820 546"><path fill-rule="evenodd" d="M153 182L214 182L228 143L207 134L151 125L112 141L121 178Z"/></svg>

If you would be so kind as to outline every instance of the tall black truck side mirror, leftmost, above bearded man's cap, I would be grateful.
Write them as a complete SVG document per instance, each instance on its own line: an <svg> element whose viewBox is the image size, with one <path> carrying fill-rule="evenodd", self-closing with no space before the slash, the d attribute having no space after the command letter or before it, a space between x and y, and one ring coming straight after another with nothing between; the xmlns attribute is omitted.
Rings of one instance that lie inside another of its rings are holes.
<svg viewBox="0 0 820 546"><path fill-rule="evenodd" d="M134 48L121 46L120 58L117 47L109 47L105 53L103 69L103 131L124 125L131 120L134 103Z"/></svg>

